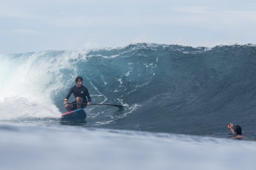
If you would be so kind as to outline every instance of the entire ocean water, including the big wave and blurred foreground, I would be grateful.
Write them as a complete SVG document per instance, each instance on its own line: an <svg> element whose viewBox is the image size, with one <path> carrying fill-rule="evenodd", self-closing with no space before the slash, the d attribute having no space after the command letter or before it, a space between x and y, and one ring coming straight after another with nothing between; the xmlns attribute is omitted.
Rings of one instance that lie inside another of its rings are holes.
<svg viewBox="0 0 256 170"><path fill-rule="evenodd" d="M0 54L0 73L1 170L255 170L256 45ZM124 108L60 121L77 76L92 103Z"/></svg>

